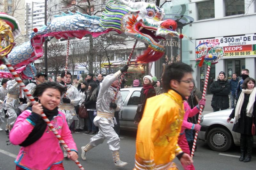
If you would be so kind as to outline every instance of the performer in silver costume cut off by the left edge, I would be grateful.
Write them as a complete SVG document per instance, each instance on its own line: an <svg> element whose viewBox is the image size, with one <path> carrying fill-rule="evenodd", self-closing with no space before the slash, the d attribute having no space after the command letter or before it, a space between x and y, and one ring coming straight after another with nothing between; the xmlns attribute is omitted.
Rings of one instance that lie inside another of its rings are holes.
<svg viewBox="0 0 256 170"><path fill-rule="evenodd" d="M4 117L5 117L5 114L4 114L4 110L6 110L6 107L5 107L5 98L6 98L6 95L7 95L7 81L8 79L3 79L2 82L1 82L1 87L0 87L0 125L2 123L4 123ZM0 131L3 131L3 129L0 127Z"/></svg>

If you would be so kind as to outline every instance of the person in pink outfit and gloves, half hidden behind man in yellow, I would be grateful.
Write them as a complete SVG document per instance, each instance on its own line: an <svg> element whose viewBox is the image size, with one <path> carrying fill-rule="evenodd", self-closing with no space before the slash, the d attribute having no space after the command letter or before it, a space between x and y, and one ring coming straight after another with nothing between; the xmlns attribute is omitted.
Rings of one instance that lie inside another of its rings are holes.
<svg viewBox="0 0 256 170"><path fill-rule="evenodd" d="M190 108L187 100L184 100L183 105L184 105L185 114L184 114L183 122L181 125L178 144L184 153L187 153L190 155L188 141L185 136L185 129L195 129L195 130L199 131L201 128L201 125L190 123L187 120L188 120L188 117L193 117L194 115L196 115L199 112L200 105L203 105L203 106L205 105L205 99L201 99L199 101L198 105L196 107L194 107L193 109ZM195 169L193 164L188 165L188 166L185 166L182 164L182 166L185 170L194 170Z"/></svg>

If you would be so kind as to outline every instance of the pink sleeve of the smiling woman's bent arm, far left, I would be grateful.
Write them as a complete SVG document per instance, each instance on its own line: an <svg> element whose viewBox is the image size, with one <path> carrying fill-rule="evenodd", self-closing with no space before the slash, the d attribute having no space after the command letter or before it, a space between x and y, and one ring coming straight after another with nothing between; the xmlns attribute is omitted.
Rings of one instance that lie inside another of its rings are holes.
<svg viewBox="0 0 256 170"><path fill-rule="evenodd" d="M31 113L25 110L17 117L9 135L12 144L21 144L34 129L33 122L27 119L29 115Z"/></svg>

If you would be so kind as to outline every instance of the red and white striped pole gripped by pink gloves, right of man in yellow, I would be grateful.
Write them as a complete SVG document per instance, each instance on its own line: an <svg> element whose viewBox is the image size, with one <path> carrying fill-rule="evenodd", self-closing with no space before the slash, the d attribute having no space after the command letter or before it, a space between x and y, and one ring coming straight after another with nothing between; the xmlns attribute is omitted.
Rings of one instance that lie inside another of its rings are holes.
<svg viewBox="0 0 256 170"><path fill-rule="evenodd" d="M207 89L207 85L208 85L210 70L211 70L211 65L207 65L207 71L206 71L206 77L205 77L205 81L204 81L204 91L203 91L202 99L205 99L205 93L206 93L206 89ZM200 124L202 112L203 112L203 105L200 106L197 124ZM194 142L193 142L193 147L192 147L192 152L191 152L191 158L193 158L193 156L194 156L194 152L195 152L195 148L196 148L197 135L198 135L198 131L196 131L196 134L195 134L195 139L194 139Z"/></svg>

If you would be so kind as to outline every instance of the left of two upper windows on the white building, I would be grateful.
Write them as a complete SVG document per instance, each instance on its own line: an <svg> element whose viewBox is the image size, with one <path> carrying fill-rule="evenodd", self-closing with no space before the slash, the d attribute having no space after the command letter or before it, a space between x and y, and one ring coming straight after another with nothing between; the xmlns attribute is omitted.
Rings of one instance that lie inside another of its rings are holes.
<svg viewBox="0 0 256 170"><path fill-rule="evenodd" d="M197 3L197 19L214 18L214 0Z"/></svg>

